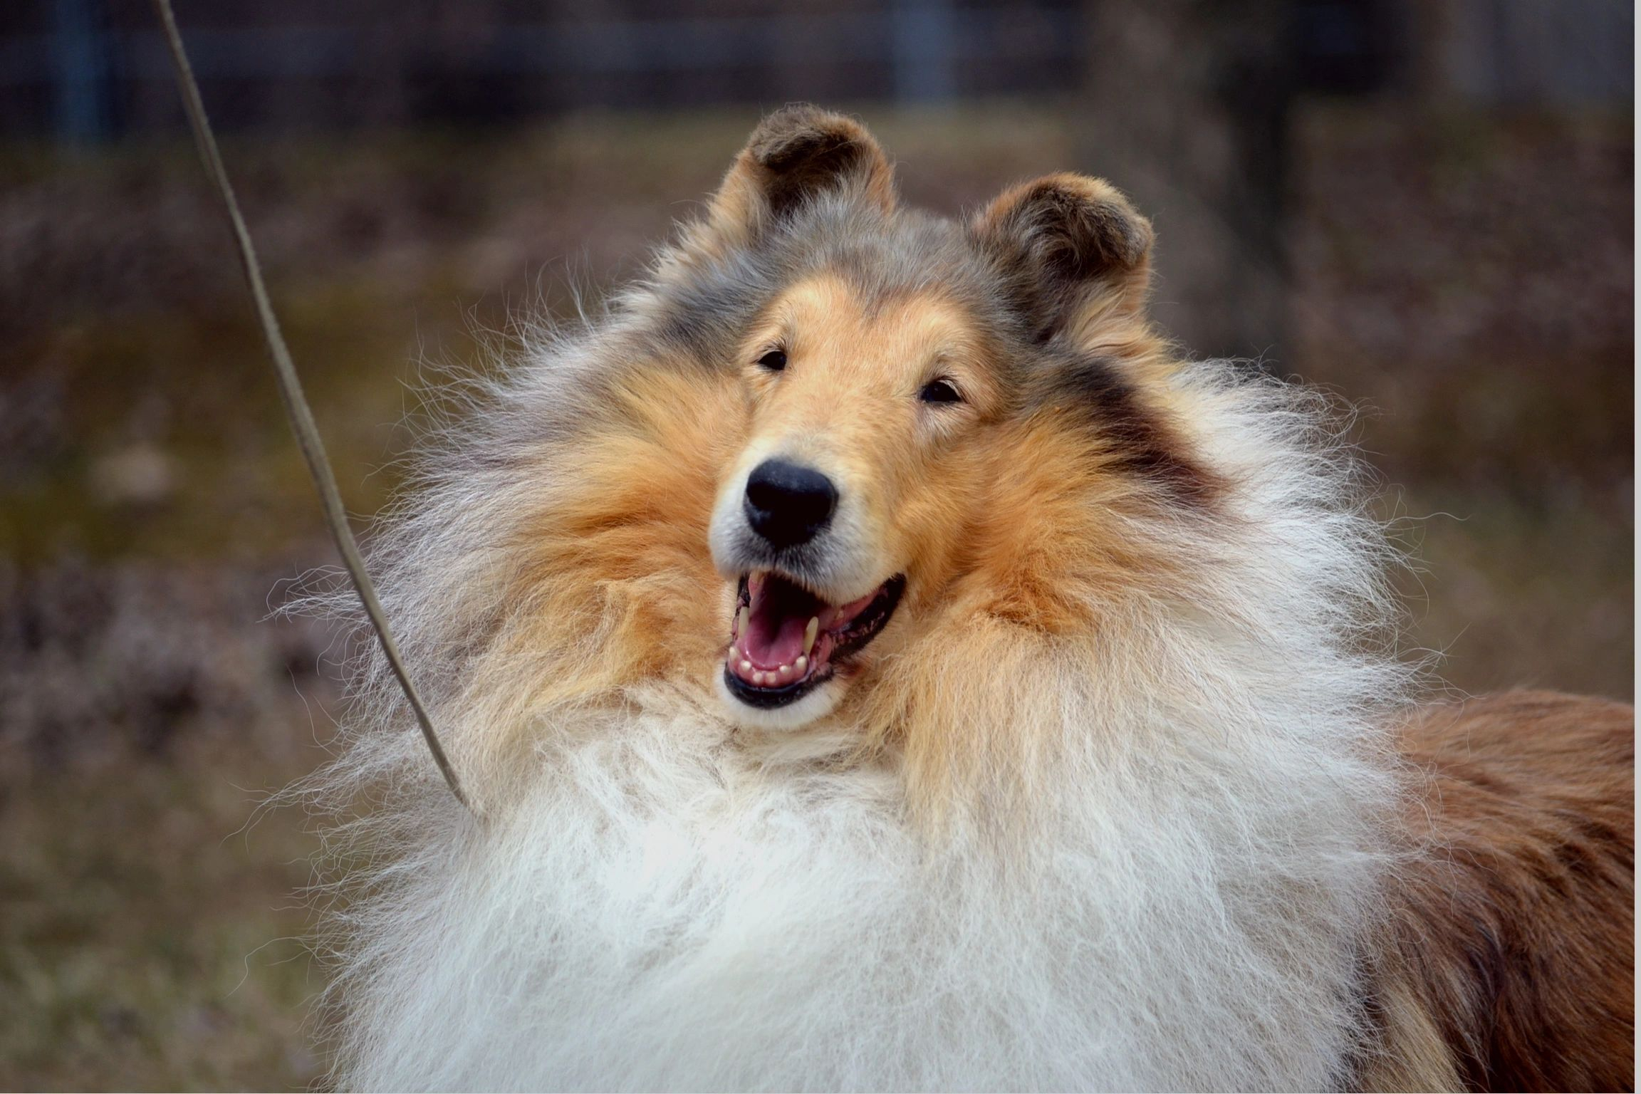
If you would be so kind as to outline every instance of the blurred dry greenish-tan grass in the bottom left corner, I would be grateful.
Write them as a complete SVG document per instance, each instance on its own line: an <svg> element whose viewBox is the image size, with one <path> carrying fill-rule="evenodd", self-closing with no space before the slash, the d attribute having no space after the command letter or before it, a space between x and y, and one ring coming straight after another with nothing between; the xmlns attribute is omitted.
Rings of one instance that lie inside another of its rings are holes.
<svg viewBox="0 0 1641 1094"><path fill-rule="evenodd" d="M0 1087L313 1081L304 1023L322 978L294 896L310 846L287 818L238 830L299 774L281 759L189 743L5 787Z"/></svg>

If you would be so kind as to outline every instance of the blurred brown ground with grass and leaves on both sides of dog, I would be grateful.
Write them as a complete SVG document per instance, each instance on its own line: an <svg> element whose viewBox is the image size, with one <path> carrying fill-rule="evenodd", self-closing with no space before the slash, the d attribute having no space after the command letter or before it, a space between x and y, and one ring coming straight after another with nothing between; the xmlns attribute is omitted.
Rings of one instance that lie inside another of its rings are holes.
<svg viewBox="0 0 1641 1094"><path fill-rule="evenodd" d="M1075 166L1065 116L866 112L942 208ZM748 128L230 144L354 512L418 361L635 269ZM1631 695L1630 133L1300 118L1278 367L1364 403L1460 689ZM305 1084L313 841L248 822L323 756L327 636L264 617L331 554L192 153L0 157L0 1087Z"/></svg>

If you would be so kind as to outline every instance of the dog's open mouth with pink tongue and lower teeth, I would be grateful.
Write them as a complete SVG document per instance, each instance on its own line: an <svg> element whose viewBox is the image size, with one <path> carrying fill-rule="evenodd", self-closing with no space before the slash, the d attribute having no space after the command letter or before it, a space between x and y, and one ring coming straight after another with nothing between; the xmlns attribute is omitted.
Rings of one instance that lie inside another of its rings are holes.
<svg viewBox="0 0 1641 1094"><path fill-rule="evenodd" d="M773 571L742 576L724 682L750 707L783 707L807 695L878 636L904 589L899 574L839 605Z"/></svg>

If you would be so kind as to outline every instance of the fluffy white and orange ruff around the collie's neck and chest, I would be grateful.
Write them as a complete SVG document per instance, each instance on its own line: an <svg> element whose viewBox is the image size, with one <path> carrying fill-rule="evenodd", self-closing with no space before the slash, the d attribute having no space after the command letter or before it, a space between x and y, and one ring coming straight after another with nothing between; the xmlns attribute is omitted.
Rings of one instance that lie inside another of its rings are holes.
<svg viewBox="0 0 1641 1094"><path fill-rule="evenodd" d="M643 459L686 512L735 413L711 382L625 392L601 371L624 336L538 346L379 538L484 818L363 664L313 787L377 799L333 833L336 1081L1344 1083L1406 674L1369 648L1387 548L1316 397L1170 366L1224 520L1113 507L1145 566L1067 586L1075 630L965 617L835 722L758 738L711 689L729 602L702 604L704 531L584 504L620 504ZM970 746L932 745L942 727Z"/></svg>

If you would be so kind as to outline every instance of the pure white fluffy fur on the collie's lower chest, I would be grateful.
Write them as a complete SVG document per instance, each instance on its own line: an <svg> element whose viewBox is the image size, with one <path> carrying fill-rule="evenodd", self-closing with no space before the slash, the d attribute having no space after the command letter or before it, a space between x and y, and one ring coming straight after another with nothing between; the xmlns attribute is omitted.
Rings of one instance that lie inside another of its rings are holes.
<svg viewBox="0 0 1641 1094"><path fill-rule="evenodd" d="M1091 758L999 861L929 851L888 773L760 766L676 705L629 718L384 873L341 1083L1337 1083L1372 869L1314 779L1246 748Z"/></svg>

